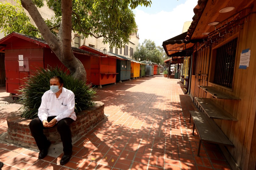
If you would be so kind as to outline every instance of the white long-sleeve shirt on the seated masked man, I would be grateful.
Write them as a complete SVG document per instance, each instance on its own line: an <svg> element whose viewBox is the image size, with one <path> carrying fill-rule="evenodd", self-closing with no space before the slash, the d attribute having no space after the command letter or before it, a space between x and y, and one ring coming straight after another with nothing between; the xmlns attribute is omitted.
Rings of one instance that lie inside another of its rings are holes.
<svg viewBox="0 0 256 170"><path fill-rule="evenodd" d="M62 87L59 98L52 90L48 90L42 96L42 102L38 109L38 117L41 121L47 120L49 116L56 116L55 119L60 121L63 118L70 117L76 120L75 95L71 90Z"/></svg>

